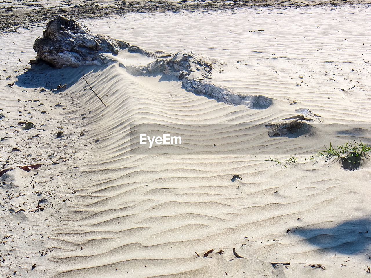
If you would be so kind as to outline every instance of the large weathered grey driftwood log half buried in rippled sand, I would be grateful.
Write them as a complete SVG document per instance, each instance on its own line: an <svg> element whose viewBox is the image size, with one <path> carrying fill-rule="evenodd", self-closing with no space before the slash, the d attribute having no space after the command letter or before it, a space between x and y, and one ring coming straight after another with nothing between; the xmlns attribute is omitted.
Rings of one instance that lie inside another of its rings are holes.
<svg viewBox="0 0 371 278"><path fill-rule="evenodd" d="M121 64L132 74L173 75L190 92L211 97L218 102L244 105L250 109L265 109L272 104L272 99L268 97L237 94L216 85L212 80L213 70L218 67L222 69L224 65L217 60L193 52L151 53L109 36L92 34L85 24L64 16L58 16L47 23L43 36L35 40L33 49L37 56L30 61L31 64L46 62L57 68L109 63L109 59L101 53L116 55L120 49L127 49L129 52L156 59L147 66Z"/></svg>

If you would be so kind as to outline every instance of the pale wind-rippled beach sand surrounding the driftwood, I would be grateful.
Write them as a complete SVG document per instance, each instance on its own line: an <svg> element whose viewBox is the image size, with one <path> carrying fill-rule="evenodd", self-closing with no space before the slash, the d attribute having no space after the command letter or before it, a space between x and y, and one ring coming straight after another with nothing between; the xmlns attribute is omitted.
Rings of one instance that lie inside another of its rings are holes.
<svg viewBox="0 0 371 278"><path fill-rule="evenodd" d="M365 6L319 6L83 21L149 51L224 62L214 82L271 98L266 109L195 95L168 76L134 76L125 66L151 59L124 50L106 54L104 66L30 69L43 29L3 34L0 157L12 170L0 178L1 274L368 277L370 162L345 171L310 157L330 142L370 143L369 16ZM318 115L308 134L268 136L266 123L299 108ZM129 130L138 121L236 128L216 147L193 143L202 155L133 155ZM298 161L267 161L289 156Z"/></svg>

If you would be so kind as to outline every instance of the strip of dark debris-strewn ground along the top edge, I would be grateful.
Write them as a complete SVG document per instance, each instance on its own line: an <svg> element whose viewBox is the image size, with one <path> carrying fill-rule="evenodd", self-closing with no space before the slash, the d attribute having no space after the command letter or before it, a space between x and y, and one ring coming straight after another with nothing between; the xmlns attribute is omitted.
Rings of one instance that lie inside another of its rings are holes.
<svg viewBox="0 0 371 278"><path fill-rule="evenodd" d="M122 1L95 0L76 1L62 0L59 6L45 5L45 2L22 0L20 4L0 3L0 32L15 32L18 28L29 28L63 15L70 19L91 19L106 17L112 14L180 12L198 10L223 10L245 7L304 7L329 5L338 6L344 1L336 0L189 0L189 1ZM371 4L371 0L348 0L346 4Z"/></svg>

